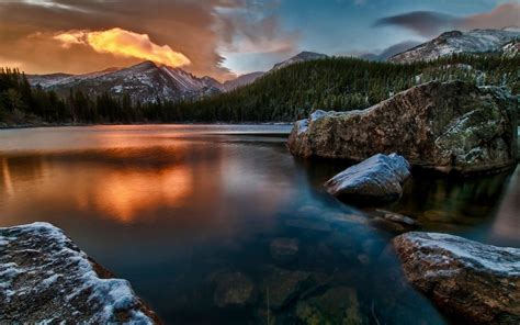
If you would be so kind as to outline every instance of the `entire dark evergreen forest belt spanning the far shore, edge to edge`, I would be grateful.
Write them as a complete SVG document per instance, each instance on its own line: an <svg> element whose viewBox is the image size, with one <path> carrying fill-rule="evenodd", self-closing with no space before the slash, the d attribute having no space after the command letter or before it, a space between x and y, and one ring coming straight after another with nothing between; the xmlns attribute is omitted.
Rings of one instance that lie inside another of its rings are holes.
<svg viewBox="0 0 520 325"><path fill-rule="evenodd" d="M429 63L392 64L326 58L287 66L228 93L189 102L143 104L128 94L88 98L70 89L66 98L31 88L18 70L0 70L0 121L72 123L291 122L316 109L352 110L430 80L462 79L520 91L520 57L456 55Z"/></svg>

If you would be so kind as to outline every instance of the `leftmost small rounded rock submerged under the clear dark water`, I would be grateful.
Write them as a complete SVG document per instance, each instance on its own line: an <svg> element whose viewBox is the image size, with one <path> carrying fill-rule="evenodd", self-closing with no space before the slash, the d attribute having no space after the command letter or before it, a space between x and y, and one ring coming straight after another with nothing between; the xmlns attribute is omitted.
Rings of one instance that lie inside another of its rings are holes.
<svg viewBox="0 0 520 325"><path fill-rule="evenodd" d="M255 283L241 272L224 272L214 277L213 301L218 307L245 306L255 301Z"/></svg>

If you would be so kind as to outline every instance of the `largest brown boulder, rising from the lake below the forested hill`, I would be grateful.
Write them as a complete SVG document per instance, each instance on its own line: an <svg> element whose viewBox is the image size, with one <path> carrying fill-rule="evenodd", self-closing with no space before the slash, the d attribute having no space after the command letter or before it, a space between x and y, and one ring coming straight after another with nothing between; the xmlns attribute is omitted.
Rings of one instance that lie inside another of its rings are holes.
<svg viewBox="0 0 520 325"><path fill-rule="evenodd" d="M312 114L289 137L293 155L361 161L398 153L414 166L462 173L517 159L517 102L502 88L428 82L372 108Z"/></svg>

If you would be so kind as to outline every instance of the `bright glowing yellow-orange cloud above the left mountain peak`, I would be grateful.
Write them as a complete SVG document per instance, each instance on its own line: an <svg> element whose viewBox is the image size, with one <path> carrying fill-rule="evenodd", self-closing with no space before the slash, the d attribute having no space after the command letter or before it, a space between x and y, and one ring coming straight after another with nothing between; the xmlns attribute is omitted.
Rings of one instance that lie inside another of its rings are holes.
<svg viewBox="0 0 520 325"><path fill-rule="evenodd" d="M171 67L190 64L190 59L185 55L174 52L168 45L155 44L147 34L137 34L122 29L69 31L56 34L54 38L61 42L66 48L79 44L88 45L98 53L148 59Z"/></svg>

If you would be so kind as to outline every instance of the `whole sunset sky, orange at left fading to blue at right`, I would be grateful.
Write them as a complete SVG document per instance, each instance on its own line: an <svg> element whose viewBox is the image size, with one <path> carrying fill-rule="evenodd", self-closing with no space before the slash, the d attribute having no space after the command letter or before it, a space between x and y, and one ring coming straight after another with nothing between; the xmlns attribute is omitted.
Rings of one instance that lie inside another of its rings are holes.
<svg viewBox="0 0 520 325"><path fill-rule="evenodd" d="M520 0L0 0L0 66L81 74L149 59L219 80L302 51L387 56L520 26Z"/></svg>

